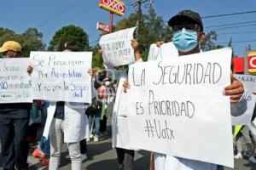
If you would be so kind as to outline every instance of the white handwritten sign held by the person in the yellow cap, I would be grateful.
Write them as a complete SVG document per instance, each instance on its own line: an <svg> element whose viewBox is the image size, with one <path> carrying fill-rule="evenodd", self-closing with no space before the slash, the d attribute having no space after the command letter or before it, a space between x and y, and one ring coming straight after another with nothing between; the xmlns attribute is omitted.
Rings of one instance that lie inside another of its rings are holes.
<svg viewBox="0 0 256 170"><path fill-rule="evenodd" d="M0 103L32 103L29 59L0 59Z"/></svg>

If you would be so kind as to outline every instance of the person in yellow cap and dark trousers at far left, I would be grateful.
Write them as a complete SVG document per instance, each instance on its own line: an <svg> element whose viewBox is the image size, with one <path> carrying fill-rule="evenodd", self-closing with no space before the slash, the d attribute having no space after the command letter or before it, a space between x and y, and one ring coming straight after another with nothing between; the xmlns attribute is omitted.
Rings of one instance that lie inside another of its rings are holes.
<svg viewBox="0 0 256 170"><path fill-rule="evenodd" d="M21 57L19 42L4 42L0 48L4 58ZM31 72L27 68L28 73ZM2 142L2 167L5 170L28 169L28 143L26 141L29 122L29 111L32 104L10 103L0 104L0 136Z"/></svg>

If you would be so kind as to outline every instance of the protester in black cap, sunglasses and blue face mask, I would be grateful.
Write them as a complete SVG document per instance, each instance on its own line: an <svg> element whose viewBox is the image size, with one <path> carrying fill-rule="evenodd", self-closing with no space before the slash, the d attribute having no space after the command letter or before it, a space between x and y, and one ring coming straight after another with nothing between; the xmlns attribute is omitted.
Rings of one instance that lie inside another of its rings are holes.
<svg viewBox="0 0 256 170"><path fill-rule="evenodd" d="M199 43L205 38L205 34L200 14L191 10L183 10L173 16L168 24L172 27L173 43L179 56L201 52ZM126 81L124 87L130 88L129 82ZM224 88L224 95L230 96L232 115L241 115L247 109L247 93L244 93L242 83L235 77L231 76L231 85ZM156 170L216 170L217 165L156 153L154 168Z"/></svg>

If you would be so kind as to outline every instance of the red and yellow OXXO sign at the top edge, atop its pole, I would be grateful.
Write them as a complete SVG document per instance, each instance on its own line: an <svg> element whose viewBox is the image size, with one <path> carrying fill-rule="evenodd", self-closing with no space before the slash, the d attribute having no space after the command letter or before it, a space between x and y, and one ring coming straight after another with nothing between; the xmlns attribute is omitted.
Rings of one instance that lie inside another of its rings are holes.
<svg viewBox="0 0 256 170"><path fill-rule="evenodd" d="M119 0L100 0L100 8L104 8L113 14L123 16L125 14L125 3Z"/></svg>

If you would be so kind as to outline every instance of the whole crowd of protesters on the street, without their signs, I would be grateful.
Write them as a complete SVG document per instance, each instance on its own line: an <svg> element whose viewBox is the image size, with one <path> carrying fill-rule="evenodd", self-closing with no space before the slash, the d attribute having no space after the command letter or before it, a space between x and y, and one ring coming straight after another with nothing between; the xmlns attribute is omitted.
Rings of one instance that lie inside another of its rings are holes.
<svg viewBox="0 0 256 170"><path fill-rule="evenodd" d="M200 14L191 10L183 10L173 16L168 25L172 27L173 42L178 51L178 56L201 53L200 42L205 38L203 23ZM161 45L161 43L158 43ZM136 62L143 62L138 48L138 42L132 41ZM78 51L73 44L66 44L63 52ZM20 57L21 46L18 42L7 41L3 43L0 52L9 58ZM29 131L33 124L39 124L42 131L40 139L32 156L42 159L43 166L49 170L58 169L61 157L61 145L67 144L72 169L82 169L82 161L87 158L87 142L91 139L99 141L101 132L106 131L108 115L112 115L115 92L119 79L127 77L127 70L113 69L110 74L107 70L91 69L88 73L92 83L92 103L74 103L64 101L33 101L32 104L0 104L0 136L2 144L2 167L4 170L28 169L27 156L30 141ZM32 74L33 67L28 65L27 72ZM114 74L114 77L113 77ZM129 93L130 83L123 84L125 93ZM230 96L232 115L242 115L247 109L247 91L243 84L231 74L231 84L224 88L224 95ZM78 107L79 105L79 107ZM255 112L255 110L254 110ZM253 119L255 118L255 113ZM252 119L252 121L253 121ZM29 125L31 124L31 127ZM49 127L47 127L50 125ZM95 130L93 128L95 127ZM44 131L44 133L43 133ZM33 135L35 136L35 133ZM254 157L254 144L249 133L249 127L244 126L236 135L237 155L249 156L249 161L256 163ZM246 141L247 151L242 152L241 139ZM115 148L119 169L133 169L134 150ZM189 160L161 153L151 153L148 160L151 170L217 170L224 169L203 161Z"/></svg>

